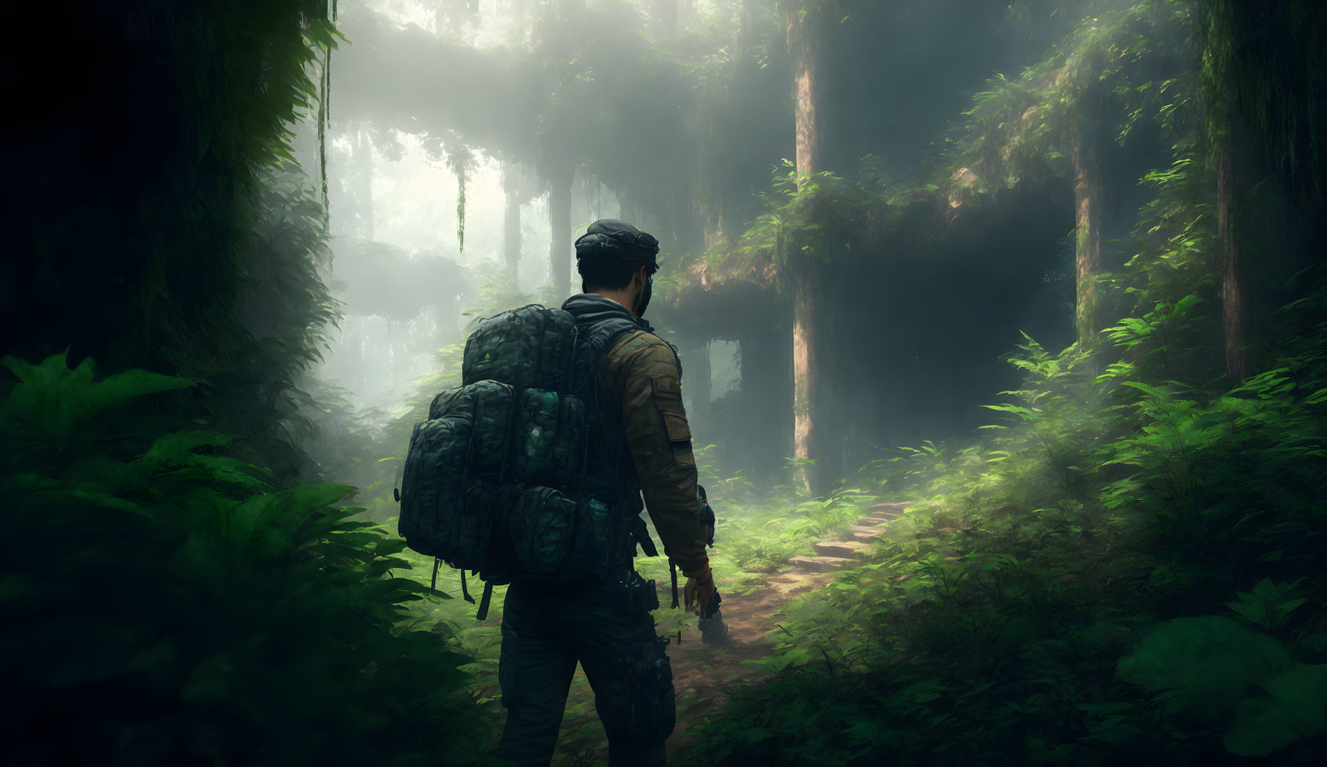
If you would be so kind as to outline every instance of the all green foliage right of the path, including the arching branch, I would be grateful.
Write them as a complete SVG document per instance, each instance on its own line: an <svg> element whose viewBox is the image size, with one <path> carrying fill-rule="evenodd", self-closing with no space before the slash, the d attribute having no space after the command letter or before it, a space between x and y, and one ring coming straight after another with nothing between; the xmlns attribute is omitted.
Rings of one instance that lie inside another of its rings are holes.
<svg viewBox="0 0 1327 767"><path fill-rule="evenodd" d="M1235 109L1214 92L1282 126L1302 158L1320 146L1316 107L1286 129L1294 119L1270 96L1279 76L1231 72L1229 41L1198 27L1229 23L1229 4L1213 5L1085 20L1043 64L975 97L929 188L885 200L929 191L957 208L1070 173L1075 121L1099 101L1117 141L1153 122L1172 146L1115 245L1103 311L1124 318L1097 348L1056 354L1028 338L1010 356L1024 386L991 406L1010 419L995 437L886 451L849 482L916 504L869 564L784 610L762 661L772 681L713 717L685 762L1299 763L1322 750L1327 275L1306 245L1320 203L1300 202L1316 169L1269 142L1282 159L1250 163L1261 180L1241 187L1242 244L1265 259L1254 289L1282 308L1262 325L1257 374L1238 384L1220 354L1208 154L1223 130L1210 105ZM1281 19L1294 31L1283 38L1322 33L1320 15L1302 11ZM1270 28L1218 32L1247 54ZM1273 61L1294 60L1291 48ZM1205 77L1198 49L1218 57ZM1295 86L1320 88L1307 72L1316 85ZM824 188L790 190L729 259L776 256L796 227L825 236L831 219L812 212Z"/></svg>

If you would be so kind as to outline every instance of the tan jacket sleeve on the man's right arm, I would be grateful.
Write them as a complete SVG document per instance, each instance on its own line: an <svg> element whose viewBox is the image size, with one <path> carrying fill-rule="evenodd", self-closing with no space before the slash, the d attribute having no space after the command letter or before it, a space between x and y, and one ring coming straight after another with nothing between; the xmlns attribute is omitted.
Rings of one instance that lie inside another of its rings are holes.
<svg viewBox="0 0 1327 767"><path fill-rule="evenodd" d="M682 385L671 346L638 333L616 349L622 382L622 426L664 552L679 568L709 564L701 537L691 429L682 409Z"/></svg>

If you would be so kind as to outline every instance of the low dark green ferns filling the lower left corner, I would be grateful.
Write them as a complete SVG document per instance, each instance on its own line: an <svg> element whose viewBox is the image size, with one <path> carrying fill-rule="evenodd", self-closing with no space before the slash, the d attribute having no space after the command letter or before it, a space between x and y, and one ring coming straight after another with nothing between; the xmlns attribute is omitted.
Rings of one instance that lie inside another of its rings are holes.
<svg viewBox="0 0 1327 767"><path fill-rule="evenodd" d="M162 415L188 380L5 365L11 763L474 760L467 658L402 628L426 589L337 506L353 488L272 490L230 437Z"/></svg>

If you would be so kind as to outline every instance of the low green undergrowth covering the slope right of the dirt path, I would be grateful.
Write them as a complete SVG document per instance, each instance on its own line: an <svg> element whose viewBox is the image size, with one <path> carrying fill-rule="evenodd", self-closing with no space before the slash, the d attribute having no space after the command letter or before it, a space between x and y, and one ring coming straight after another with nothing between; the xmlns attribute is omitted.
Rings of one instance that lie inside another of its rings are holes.
<svg viewBox="0 0 1327 767"><path fill-rule="evenodd" d="M1193 301L1128 362L1028 341L1011 423L878 460L914 506L791 605L772 682L685 763L1306 763L1327 727L1324 293L1229 390L1170 378ZM1189 336L1192 338L1192 334Z"/></svg>

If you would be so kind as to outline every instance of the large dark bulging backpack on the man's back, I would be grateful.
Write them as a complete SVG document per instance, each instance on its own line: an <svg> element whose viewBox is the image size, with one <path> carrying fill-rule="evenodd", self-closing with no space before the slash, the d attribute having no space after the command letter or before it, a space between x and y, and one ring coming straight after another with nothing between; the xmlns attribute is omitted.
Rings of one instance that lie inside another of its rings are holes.
<svg viewBox="0 0 1327 767"><path fill-rule="evenodd" d="M480 616L494 583L577 583L630 561L640 487L598 360L634 329L583 338L568 312L539 305L490 317L466 342L462 386L414 427L399 532L460 569L470 601L464 571L486 581Z"/></svg>

